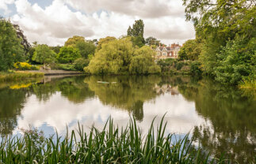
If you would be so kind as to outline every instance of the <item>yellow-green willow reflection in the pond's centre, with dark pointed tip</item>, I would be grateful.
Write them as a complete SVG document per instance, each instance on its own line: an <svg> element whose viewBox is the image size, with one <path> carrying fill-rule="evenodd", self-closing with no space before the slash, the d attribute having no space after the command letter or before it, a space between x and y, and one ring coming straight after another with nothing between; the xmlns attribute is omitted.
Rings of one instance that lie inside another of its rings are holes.
<svg viewBox="0 0 256 164"><path fill-rule="evenodd" d="M143 102L155 98L153 88L160 80L159 76L89 76L84 81L101 103L132 111L136 119L142 121ZM109 84L97 81L107 81Z"/></svg>

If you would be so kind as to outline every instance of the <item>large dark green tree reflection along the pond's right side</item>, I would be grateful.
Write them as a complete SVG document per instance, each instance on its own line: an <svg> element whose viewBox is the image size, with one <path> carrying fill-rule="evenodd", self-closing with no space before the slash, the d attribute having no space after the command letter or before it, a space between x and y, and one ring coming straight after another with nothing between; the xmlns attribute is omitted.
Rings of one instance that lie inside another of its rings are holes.
<svg viewBox="0 0 256 164"><path fill-rule="evenodd" d="M181 85L186 99L195 101L199 114L212 126L196 126L193 136L204 148L225 153L241 163L253 161L256 147L256 101L243 91L201 80L197 85Z"/></svg>

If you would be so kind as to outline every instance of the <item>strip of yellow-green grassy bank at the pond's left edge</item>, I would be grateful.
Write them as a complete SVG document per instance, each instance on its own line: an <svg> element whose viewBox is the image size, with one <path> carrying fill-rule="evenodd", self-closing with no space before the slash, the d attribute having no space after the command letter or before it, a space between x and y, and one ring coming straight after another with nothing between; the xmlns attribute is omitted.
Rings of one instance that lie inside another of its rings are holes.
<svg viewBox="0 0 256 164"><path fill-rule="evenodd" d="M44 73L26 73L26 72L0 72L0 82L24 80L27 78L42 77Z"/></svg>

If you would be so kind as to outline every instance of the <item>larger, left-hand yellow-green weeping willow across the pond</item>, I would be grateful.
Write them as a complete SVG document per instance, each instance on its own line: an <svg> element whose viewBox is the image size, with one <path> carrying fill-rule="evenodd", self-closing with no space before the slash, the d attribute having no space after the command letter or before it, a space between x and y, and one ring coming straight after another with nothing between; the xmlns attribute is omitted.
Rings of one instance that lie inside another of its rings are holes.
<svg viewBox="0 0 256 164"><path fill-rule="evenodd" d="M101 40L100 40L101 41ZM97 74L128 73L134 48L130 39L114 39L101 45L101 49L95 53L86 71Z"/></svg>

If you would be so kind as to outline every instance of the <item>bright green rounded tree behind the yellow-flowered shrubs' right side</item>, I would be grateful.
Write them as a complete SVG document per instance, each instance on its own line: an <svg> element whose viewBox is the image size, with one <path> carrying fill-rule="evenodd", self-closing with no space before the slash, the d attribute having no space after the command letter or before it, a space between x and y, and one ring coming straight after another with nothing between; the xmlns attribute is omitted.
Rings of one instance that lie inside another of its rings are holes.
<svg viewBox="0 0 256 164"><path fill-rule="evenodd" d="M56 54L46 44L39 44L36 46L32 61L39 62L42 64L55 62Z"/></svg>

